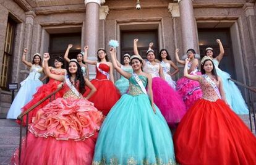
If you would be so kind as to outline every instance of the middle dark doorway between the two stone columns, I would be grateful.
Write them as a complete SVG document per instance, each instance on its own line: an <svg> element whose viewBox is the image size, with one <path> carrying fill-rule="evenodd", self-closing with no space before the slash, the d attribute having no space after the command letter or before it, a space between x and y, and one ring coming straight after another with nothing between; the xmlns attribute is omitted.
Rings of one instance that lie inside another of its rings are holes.
<svg viewBox="0 0 256 165"><path fill-rule="evenodd" d="M157 30L143 30L143 31L121 31L121 63L123 63L124 54L128 53L134 55L134 39L138 38L138 50L143 59L147 58L148 44L153 42L153 50L158 56L158 31Z"/></svg>

